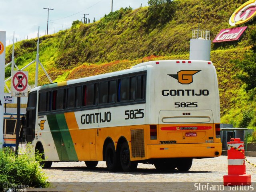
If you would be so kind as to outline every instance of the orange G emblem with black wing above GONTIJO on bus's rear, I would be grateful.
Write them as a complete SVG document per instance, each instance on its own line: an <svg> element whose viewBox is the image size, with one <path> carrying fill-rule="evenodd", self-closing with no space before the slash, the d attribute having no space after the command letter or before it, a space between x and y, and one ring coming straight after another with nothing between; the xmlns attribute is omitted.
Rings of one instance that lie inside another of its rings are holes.
<svg viewBox="0 0 256 192"><path fill-rule="evenodd" d="M178 80L180 84L190 84L193 82L193 75L201 70L181 70L177 74L168 74L169 76Z"/></svg>

